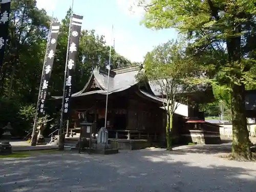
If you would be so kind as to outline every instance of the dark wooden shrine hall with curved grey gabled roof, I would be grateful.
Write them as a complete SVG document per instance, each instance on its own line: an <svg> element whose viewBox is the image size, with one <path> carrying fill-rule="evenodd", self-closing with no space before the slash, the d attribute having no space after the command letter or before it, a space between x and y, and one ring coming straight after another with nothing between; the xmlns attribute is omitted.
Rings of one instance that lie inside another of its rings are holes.
<svg viewBox="0 0 256 192"><path fill-rule="evenodd" d="M142 69L142 65L136 65L110 71L106 129L110 143L117 141L119 148L134 150L165 144L166 115L162 98L152 84L137 81L136 75ZM78 140L80 122L85 117L94 122L93 133L104 126L107 83L108 70L95 68L84 88L72 94L69 139L66 140ZM207 102L206 99L213 96L211 90L204 89L189 93L187 97L193 103L199 103ZM62 97L53 98L61 103ZM193 104L192 107L189 103L178 106L173 120L175 143L219 141L219 127L206 123L197 106Z"/></svg>

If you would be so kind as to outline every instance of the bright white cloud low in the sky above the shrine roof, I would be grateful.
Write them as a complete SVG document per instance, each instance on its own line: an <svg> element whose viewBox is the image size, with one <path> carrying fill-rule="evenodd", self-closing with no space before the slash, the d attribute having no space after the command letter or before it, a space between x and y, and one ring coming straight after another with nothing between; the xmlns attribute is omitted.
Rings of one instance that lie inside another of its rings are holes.
<svg viewBox="0 0 256 192"><path fill-rule="evenodd" d="M97 34L105 36L107 45L113 46L115 38L115 50L120 55L130 59L131 61L140 62L143 60L144 53L138 46L135 44L133 45L133 36L129 32L115 28L115 26L113 35L111 26L98 26L95 28L95 31Z"/></svg>

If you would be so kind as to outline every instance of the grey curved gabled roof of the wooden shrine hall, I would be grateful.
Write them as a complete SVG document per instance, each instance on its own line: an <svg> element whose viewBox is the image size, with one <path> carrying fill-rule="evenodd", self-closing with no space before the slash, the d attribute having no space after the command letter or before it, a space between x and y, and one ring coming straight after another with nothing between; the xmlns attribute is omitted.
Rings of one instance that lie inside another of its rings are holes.
<svg viewBox="0 0 256 192"><path fill-rule="evenodd" d="M136 75L142 69L143 69L142 65L135 65L135 66L129 66L129 67L111 70L110 77L109 77L108 94L124 91L135 86L138 83ZM157 97L157 96L161 96L161 93L159 93L160 91L159 86L157 86L152 82L145 82L144 85L145 85L144 89L141 86L139 88L139 90L143 91L142 92L143 95L147 95L148 98L151 97L151 99L154 98L154 100L162 102L162 98ZM95 87L97 87L98 90L95 90L95 89L92 90L92 88L95 88ZM72 94L72 97L79 97L79 96L85 96L85 95L91 95L91 94L106 95L107 87L108 87L108 70L105 68L95 68L92 71L91 77L89 78L89 81L86 83L86 86L84 86L84 88L81 91ZM53 97L53 98L60 99L62 98L62 96Z"/></svg>

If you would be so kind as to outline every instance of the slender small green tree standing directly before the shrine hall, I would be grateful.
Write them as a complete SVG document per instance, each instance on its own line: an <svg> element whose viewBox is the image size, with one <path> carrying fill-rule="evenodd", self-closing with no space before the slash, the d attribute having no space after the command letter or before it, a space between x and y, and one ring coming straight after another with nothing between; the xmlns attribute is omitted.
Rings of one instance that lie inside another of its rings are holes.
<svg viewBox="0 0 256 192"><path fill-rule="evenodd" d="M157 46L145 56L144 71L139 79L147 79L155 84L162 94L166 110L167 150L172 150L173 115L185 97L182 93L191 91L186 78L193 68L184 62L184 51L174 41Z"/></svg>

